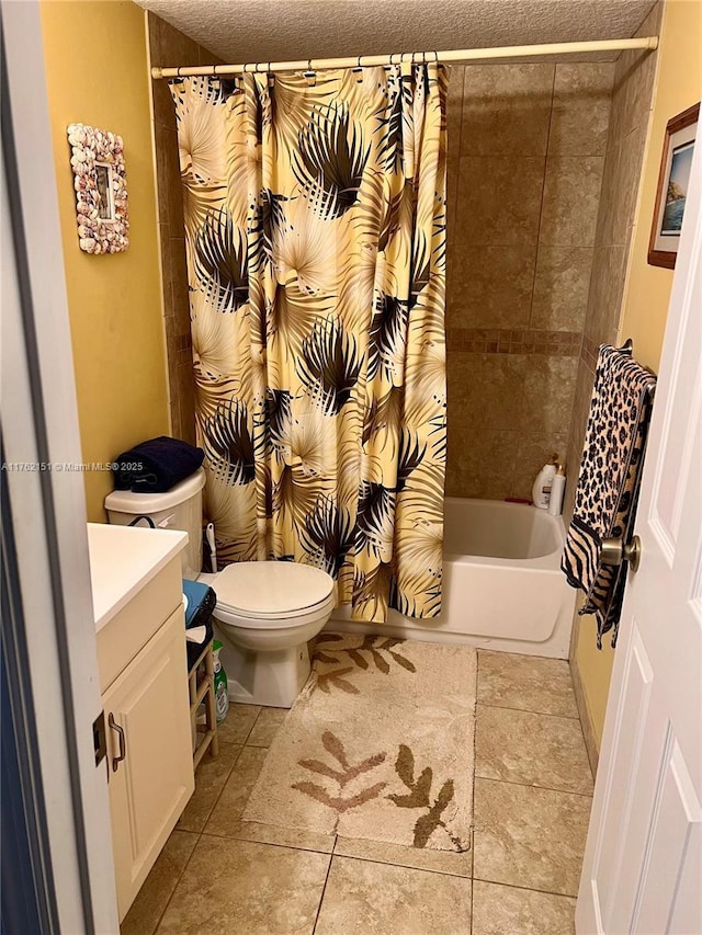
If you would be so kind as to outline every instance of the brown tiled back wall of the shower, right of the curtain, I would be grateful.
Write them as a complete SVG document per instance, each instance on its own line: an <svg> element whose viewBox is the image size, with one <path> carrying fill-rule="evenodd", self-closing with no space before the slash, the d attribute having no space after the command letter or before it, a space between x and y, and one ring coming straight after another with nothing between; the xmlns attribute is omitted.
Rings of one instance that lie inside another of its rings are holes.
<svg viewBox="0 0 702 935"><path fill-rule="evenodd" d="M453 69L450 495L528 498L548 456L565 458L614 70Z"/></svg>

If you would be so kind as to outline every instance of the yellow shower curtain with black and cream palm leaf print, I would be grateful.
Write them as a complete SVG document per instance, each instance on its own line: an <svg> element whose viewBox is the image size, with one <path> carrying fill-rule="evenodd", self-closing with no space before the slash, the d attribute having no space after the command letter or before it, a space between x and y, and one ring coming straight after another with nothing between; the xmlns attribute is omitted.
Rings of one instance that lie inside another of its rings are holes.
<svg viewBox="0 0 702 935"><path fill-rule="evenodd" d="M446 82L171 82L218 556L322 568L362 620L441 609Z"/></svg>

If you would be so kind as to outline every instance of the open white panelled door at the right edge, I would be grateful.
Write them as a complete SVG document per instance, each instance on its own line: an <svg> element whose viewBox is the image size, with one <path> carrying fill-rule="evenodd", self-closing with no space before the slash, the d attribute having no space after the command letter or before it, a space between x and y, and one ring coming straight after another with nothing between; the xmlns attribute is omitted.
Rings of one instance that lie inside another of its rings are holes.
<svg viewBox="0 0 702 935"><path fill-rule="evenodd" d="M702 933L701 199L699 145L642 481L642 560L638 572L630 572L622 612L578 935Z"/></svg>

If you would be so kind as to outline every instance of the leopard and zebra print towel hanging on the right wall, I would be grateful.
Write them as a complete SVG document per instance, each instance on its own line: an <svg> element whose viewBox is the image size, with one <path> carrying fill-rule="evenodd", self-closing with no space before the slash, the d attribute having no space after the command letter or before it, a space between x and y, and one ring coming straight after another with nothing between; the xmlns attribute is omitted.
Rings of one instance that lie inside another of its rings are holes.
<svg viewBox="0 0 702 935"><path fill-rule="evenodd" d="M595 374L573 520L561 568L585 591L580 614L597 617L597 645L612 630L616 646L629 562L600 562L602 539L629 541L636 516L641 470L653 408L655 377L631 350L602 344Z"/></svg>

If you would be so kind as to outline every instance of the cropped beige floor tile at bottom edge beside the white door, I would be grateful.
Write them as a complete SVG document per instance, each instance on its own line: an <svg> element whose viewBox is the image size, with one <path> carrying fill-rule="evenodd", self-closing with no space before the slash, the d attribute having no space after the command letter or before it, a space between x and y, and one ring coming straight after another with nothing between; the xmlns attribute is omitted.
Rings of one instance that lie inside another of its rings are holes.
<svg viewBox="0 0 702 935"><path fill-rule="evenodd" d="M575 899L475 880L473 935L575 935Z"/></svg>

